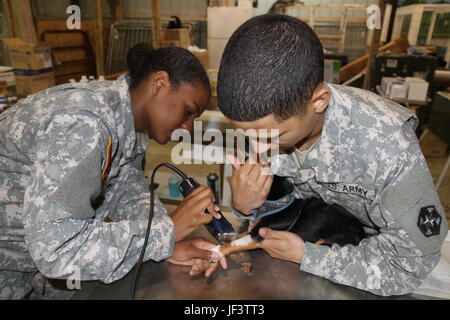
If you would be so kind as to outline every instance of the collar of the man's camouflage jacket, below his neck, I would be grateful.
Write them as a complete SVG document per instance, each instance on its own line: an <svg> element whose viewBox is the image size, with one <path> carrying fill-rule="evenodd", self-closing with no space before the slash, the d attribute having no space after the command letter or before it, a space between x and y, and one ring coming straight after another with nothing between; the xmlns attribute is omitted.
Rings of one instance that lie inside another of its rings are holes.
<svg viewBox="0 0 450 320"><path fill-rule="evenodd" d="M334 89L324 82L324 87L331 90L331 98L325 111L325 121L317 143L309 151L302 168L298 168L292 154L280 154L271 158L271 170L283 177L295 177L297 183L311 179L319 182L337 182L340 180L340 124L342 110L338 107Z"/></svg>

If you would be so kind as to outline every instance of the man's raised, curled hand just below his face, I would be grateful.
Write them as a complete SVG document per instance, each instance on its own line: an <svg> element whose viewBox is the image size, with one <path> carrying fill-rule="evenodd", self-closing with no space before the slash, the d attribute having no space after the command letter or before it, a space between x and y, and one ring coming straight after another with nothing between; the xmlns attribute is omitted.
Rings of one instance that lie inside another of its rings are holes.
<svg viewBox="0 0 450 320"><path fill-rule="evenodd" d="M265 164L250 164L248 159L241 165L234 156L227 156L231 161L234 172L230 179L233 208L243 214L250 214L259 208L267 199L273 182L273 174Z"/></svg>

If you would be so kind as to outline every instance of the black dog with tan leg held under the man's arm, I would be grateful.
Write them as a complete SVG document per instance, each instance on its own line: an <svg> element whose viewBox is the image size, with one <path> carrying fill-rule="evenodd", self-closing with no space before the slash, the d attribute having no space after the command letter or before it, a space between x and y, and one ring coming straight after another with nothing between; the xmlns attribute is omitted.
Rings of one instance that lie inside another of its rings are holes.
<svg viewBox="0 0 450 320"><path fill-rule="evenodd" d="M275 176L267 200L278 200L293 191L285 178ZM358 245L367 236L364 225L348 211L338 205L329 205L317 198L296 199L284 210L262 218L250 231L239 239L217 246L214 251L228 255L236 251L261 247L260 228L295 233L304 241L331 246L338 244Z"/></svg>

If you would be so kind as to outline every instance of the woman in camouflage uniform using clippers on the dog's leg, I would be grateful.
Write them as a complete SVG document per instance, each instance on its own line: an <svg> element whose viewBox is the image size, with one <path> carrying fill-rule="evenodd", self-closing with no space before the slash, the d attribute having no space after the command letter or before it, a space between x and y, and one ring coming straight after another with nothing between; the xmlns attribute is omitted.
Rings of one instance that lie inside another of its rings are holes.
<svg viewBox="0 0 450 320"><path fill-rule="evenodd" d="M136 264L150 206L143 131L165 143L171 130L190 129L210 89L187 50L138 45L128 58L130 76L50 88L0 115L0 299L67 298L46 278L110 283ZM142 125L151 121L160 127ZM155 200L144 261L209 261L206 241L181 240L210 221L211 191L183 201L172 219ZM191 274L216 267L196 264Z"/></svg>

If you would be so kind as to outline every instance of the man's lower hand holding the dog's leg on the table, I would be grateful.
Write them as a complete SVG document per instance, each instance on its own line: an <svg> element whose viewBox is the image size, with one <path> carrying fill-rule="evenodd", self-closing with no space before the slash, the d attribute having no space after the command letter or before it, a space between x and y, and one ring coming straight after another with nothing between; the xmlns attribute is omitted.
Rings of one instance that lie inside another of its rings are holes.
<svg viewBox="0 0 450 320"><path fill-rule="evenodd" d="M261 247L271 257L295 263L302 262L305 242L296 234L261 228L259 235L264 238Z"/></svg>

